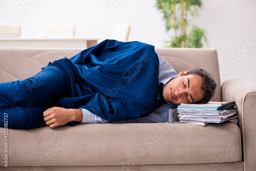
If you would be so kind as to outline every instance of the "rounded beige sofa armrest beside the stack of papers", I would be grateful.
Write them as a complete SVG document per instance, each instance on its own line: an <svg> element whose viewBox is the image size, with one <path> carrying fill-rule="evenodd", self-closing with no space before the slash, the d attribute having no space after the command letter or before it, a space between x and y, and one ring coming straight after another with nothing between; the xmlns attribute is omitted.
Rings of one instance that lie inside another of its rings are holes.
<svg viewBox="0 0 256 171"><path fill-rule="evenodd" d="M229 79L222 84L222 101L236 101L245 170L256 170L256 82Z"/></svg>

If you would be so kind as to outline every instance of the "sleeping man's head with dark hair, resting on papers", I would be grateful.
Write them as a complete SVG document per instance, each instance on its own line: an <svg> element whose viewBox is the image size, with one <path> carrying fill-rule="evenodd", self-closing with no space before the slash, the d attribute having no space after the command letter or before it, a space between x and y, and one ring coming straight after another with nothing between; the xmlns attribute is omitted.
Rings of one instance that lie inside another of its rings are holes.
<svg viewBox="0 0 256 171"><path fill-rule="evenodd" d="M214 78L202 69L180 72L164 87L163 97L173 104L207 103L216 90Z"/></svg>

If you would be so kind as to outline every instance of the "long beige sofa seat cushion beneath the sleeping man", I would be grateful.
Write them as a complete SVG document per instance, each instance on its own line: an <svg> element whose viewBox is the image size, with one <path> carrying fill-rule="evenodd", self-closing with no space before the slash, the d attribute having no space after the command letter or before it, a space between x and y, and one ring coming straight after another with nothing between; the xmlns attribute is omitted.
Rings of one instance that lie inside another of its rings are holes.
<svg viewBox="0 0 256 171"><path fill-rule="evenodd" d="M206 126L179 123L78 124L54 129L46 126L29 131L9 129L8 136L8 166L216 163L242 159L240 129L231 122ZM4 143L0 149L4 149ZM0 157L3 159L4 154Z"/></svg>

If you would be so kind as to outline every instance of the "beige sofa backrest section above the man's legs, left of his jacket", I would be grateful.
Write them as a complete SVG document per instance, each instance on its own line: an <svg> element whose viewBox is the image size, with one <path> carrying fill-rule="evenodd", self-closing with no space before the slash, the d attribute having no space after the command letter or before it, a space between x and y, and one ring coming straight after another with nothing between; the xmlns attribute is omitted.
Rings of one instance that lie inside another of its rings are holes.
<svg viewBox="0 0 256 171"><path fill-rule="evenodd" d="M70 58L82 50L0 48L0 82L26 79L49 62L65 56Z"/></svg>

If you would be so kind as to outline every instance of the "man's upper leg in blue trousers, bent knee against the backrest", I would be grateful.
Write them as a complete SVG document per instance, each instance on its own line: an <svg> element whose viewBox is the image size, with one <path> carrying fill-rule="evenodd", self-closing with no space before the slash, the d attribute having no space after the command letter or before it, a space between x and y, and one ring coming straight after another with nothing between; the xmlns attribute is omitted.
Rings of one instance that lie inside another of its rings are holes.
<svg viewBox="0 0 256 171"><path fill-rule="evenodd" d="M69 90L69 74L57 67L47 67L23 81L0 83L0 109L53 104Z"/></svg>

